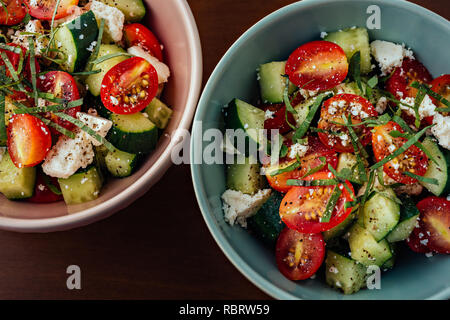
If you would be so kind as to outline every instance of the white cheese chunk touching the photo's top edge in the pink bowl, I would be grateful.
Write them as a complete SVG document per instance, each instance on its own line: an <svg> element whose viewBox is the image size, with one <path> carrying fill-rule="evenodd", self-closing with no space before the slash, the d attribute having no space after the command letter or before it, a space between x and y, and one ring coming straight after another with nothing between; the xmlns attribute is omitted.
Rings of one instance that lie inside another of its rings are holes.
<svg viewBox="0 0 450 320"><path fill-rule="evenodd" d="M114 42L122 40L123 23L125 22L125 15L122 11L95 0L92 1L90 9L95 18L105 20L105 33Z"/></svg>

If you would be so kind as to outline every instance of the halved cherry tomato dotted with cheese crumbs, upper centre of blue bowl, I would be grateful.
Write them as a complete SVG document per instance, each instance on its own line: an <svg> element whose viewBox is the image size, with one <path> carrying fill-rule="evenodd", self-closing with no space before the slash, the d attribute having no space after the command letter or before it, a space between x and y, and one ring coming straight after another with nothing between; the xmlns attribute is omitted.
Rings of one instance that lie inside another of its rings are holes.
<svg viewBox="0 0 450 320"><path fill-rule="evenodd" d="M373 105L363 97L354 94L338 94L326 100L320 111L320 119L317 127L329 133L319 132L319 138L323 144L332 147L338 152L354 152L352 140L348 133L348 128L343 124L338 125L333 122L344 123L342 116L347 119L351 116L352 124L361 123L367 117L376 117L378 112ZM363 146L371 140L370 129L364 125L353 127L359 141ZM340 133L338 136L333 133Z"/></svg>

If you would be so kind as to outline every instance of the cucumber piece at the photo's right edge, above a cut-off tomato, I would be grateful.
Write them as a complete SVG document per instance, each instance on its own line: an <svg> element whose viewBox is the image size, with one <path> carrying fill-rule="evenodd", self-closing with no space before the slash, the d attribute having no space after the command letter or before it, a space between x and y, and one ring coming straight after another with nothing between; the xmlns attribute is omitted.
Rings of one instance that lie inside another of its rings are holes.
<svg viewBox="0 0 450 320"><path fill-rule="evenodd" d="M435 196L450 193L450 179L448 178L450 168L450 151L441 149L430 137L426 137L422 144L437 162L436 164L429 159L428 170L425 172L424 177L436 179L438 184L436 185L420 180L419 183Z"/></svg>

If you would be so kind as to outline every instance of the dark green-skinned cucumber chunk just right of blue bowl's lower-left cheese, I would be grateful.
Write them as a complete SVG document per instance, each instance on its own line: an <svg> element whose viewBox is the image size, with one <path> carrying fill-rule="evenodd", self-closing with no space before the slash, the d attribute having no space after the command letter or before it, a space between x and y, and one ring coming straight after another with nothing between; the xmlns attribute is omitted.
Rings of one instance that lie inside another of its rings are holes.
<svg viewBox="0 0 450 320"><path fill-rule="evenodd" d="M272 191L269 199L258 212L247 219L249 229L266 243L275 244L285 227L279 214L280 203L283 197L282 193Z"/></svg>

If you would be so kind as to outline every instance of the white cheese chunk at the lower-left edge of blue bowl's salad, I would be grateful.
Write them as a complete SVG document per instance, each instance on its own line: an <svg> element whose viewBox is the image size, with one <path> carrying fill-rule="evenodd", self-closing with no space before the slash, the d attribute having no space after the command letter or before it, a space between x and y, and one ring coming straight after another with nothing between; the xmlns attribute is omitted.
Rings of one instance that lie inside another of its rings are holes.
<svg viewBox="0 0 450 320"><path fill-rule="evenodd" d="M244 194L240 191L227 190L222 194L225 221L230 225L235 222L243 228L247 227L247 218L254 215L270 197L272 190L259 190L254 195Z"/></svg>

